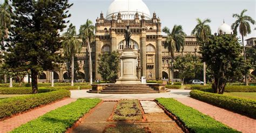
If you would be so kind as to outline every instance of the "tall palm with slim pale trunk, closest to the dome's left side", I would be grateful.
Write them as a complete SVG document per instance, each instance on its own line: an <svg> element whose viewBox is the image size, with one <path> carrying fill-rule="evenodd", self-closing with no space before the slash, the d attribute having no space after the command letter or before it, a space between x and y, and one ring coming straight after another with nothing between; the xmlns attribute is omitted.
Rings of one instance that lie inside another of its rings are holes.
<svg viewBox="0 0 256 133"><path fill-rule="evenodd" d="M89 52L90 84L92 84L92 56L90 43L95 40L95 26L92 24L92 21L87 19L86 23L81 25L79 29L79 36L83 41L83 45L87 45L87 50Z"/></svg>

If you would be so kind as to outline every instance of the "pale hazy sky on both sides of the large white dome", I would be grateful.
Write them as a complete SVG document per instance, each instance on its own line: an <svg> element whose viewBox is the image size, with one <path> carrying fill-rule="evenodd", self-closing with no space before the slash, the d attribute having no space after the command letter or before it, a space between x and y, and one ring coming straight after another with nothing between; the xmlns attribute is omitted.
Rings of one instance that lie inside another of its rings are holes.
<svg viewBox="0 0 256 133"><path fill-rule="evenodd" d="M160 17L162 27L172 28L173 25L182 25L187 35L191 34L192 29L197 24L196 18L210 18L212 33L217 32L218 27L223 24L223 19L228 25L232 25L235 19L233 13L240 13L247 9L246 14L256 20L255 0L143 0L149 7L151 17L153 12ZM71 23L76 25L77 29L84 24L86 19L96 22L100 12L104 13L113 0L70 0L74 5L70 9L72 14ZM256 27L252 25L252 29ZM256 37L254 30L247 38Z"/></svg>

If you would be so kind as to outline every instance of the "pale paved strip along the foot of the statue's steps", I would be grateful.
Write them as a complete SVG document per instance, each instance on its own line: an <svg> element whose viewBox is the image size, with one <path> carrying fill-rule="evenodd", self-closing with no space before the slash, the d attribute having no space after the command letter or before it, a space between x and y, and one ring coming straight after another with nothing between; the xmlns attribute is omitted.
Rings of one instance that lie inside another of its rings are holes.
<svg viewBox="0 0 256 133"><path fill-rule="evenodd" d="M149 94L97 94L87 93L87 90L71 91L71 98L100 98L103 100L119 99L139 99L154 100L156 98L187 98L190 96L190 90L171 90L167 93L149 93Z"/></svg>

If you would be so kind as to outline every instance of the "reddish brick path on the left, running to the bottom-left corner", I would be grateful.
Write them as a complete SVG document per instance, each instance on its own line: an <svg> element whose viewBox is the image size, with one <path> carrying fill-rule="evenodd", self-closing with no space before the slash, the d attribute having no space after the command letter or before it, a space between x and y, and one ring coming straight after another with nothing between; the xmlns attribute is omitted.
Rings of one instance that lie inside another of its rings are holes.
<svg viewBox="0 0 256 133"><path fill-rule="evenodd" d="M76 101L76 99L72 99L72 98L64 99L61 101L57 101L53 104L46 105L41 108L33 109L30 112L26 112L24 114L11 117L10 119L0 121L0 132L1 133L9 132L15 128L18 128L22 124L25 124L26 122L34 120L37 117L50 112L51 110L62 107L64 105L68 105L73 101Z"/></svg>

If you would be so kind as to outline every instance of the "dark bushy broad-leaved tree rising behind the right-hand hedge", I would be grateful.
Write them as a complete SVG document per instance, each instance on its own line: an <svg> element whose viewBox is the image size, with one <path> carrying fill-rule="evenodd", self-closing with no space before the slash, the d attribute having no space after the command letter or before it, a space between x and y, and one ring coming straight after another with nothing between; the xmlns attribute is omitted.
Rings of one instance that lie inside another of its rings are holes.
<svg viewBox="0 0 256 133"><path fill-rule="evenodd" d="M215 93L223 94L226 83L244 68L240 56L242 48L235 35L211 35L205 45L200 46L201 60L206 62L212 72L212 88Z"/></svg>

